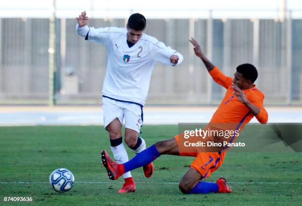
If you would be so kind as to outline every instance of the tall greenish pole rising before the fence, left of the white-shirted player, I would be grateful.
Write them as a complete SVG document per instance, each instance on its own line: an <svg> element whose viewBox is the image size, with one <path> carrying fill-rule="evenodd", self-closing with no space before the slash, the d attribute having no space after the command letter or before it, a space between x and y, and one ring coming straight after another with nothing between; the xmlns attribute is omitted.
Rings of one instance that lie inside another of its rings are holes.
<svg viewBox="0 0 302 206"><path fill-rule="evenodd" d="M49 106L53 106L55 104L55 98L54 98L54 72L56 70L55 12L56 12L55 0L52 0L51 14L49 17L49 38L48 38L48 105Z"/></svg>

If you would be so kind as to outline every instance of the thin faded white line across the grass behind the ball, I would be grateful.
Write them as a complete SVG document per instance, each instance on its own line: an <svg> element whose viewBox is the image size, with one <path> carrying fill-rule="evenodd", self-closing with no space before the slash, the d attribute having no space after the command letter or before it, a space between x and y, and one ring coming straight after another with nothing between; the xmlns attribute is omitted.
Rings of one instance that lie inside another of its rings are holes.
<svg viewBox="0 0 302 206"><path fill-rule="evenodd" d="M113 184L117 182L76 182L76 184ZM136 182L139 184L179 184L179 182ZM298 182L227 182L229 184L297 184ZM49 182L0 182L0 184L49 184Z"/></svg>

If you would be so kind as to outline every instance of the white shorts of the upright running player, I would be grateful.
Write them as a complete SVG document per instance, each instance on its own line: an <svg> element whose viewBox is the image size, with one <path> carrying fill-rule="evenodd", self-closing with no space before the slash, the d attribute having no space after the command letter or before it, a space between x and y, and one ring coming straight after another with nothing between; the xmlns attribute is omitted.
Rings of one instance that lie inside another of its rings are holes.
<svg viewBox="0 0 302 206"><path fill-rule="evenodd" d="M118 118L121 124L123 124L123 120L125 119L125 128L140 133L143 125L143 106L103 97L103 113L105 128L115 118Z"/></svg>

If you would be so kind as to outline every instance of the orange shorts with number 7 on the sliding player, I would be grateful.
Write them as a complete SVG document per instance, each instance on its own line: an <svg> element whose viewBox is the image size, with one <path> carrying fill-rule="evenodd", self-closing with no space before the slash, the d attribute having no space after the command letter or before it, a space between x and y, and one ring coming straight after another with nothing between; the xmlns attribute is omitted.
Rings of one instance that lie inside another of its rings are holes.
<svg viewBox="0 0 302 206"><path fill-rule="evenodd" d="M179 147L178 135L174 138ZM194 168L206 179L223 164L226 152L180 152L179 155L196 157L190 167Z"/></svg>

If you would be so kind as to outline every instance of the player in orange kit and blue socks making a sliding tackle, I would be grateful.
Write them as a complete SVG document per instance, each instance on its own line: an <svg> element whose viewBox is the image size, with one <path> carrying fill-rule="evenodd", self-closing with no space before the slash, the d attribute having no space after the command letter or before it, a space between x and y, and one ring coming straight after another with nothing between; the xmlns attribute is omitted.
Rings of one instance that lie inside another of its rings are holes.
<svg viewBox="0 0 302 206"><path fill-rule="evenodd" d="M199 57L210 75L221 86L227 89L223 101L213 114L209 124L236 123L236 130L243 129L254 116L261 124L265 124L268 115L263 106L264 94L254 84L258 77L257 69L251 64L239 65L234 77L226 76L215 67L202 53L197 41L191 38L190 43L194 46L194 52ZM201 152L197 148L190 148L191 152L182 152L179 137L177 135L167 140L159 141L151 147L137 154L124 164L116 164L106 150L102 151L101 159L108 172L110 179L117 179L123 173L134 170L154 161L162 154L194 156L195 160L179 183L180 190L185 194L206 194L210 192L229 193L231 187L227 185L224 177L218 178L217 182L201 181L216 171L223 163L227 150L217 152ZM231 138L230 141L232 141Z"/></svg>

